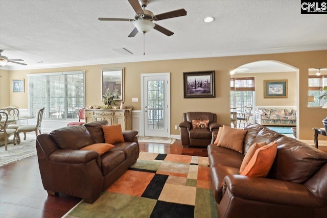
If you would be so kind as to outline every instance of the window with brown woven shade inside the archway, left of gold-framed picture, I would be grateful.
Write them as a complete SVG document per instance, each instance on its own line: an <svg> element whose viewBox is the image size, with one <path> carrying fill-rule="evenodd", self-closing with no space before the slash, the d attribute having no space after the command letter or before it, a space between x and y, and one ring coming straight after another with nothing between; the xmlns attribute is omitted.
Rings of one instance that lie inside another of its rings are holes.
<svg viewBox="0 0 327 218"><path fill-rule="evenodd" d="M244 112L245 106L253 107L254 77L230 78L230 108Z"/></svg>

